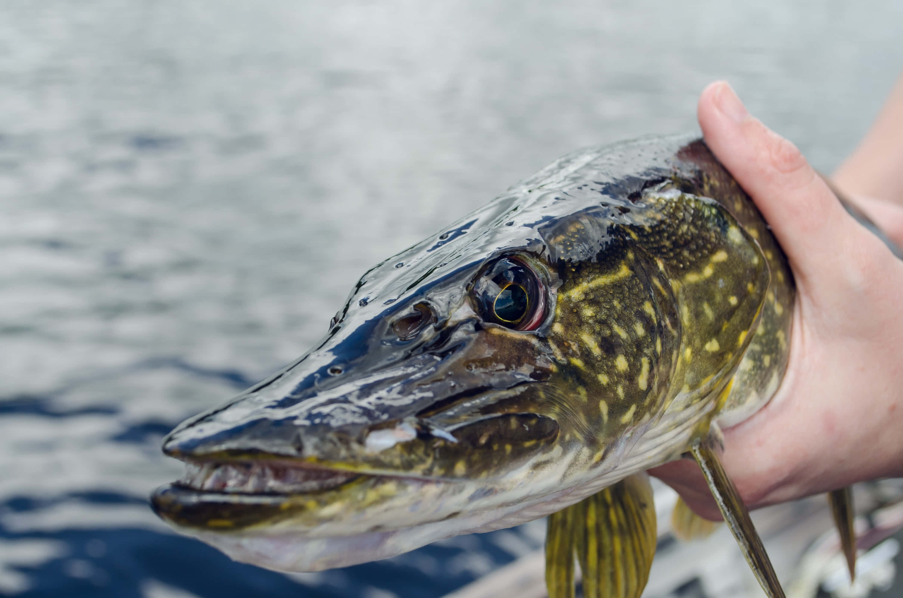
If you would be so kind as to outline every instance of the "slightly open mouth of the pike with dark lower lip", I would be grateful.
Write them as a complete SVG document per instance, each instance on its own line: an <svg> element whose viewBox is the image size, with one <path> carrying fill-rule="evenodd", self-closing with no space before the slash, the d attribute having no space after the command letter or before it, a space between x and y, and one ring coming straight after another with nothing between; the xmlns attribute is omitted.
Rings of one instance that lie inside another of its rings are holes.
<svg viewBox="0 0 903 598"><path fill-rule="evenodd" d="M186 461L185 474L151 495L151 508L179 528L215 531L259 530L286 519L315 527L330 517L330 505L370 496L393 481L406 486L441 484L418 479L331 469L286 461Z"/></svg>

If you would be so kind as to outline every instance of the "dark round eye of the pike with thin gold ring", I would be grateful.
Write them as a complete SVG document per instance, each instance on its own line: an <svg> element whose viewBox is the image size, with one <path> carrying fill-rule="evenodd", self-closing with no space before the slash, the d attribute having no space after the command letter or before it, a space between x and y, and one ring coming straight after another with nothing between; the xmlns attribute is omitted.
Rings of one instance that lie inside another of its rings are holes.
<svg viewBox="0 0 903 598"><path fill-rule="evenodd" d="M479 314L518 331L536 330L545 316L545 288L526 262L502 257L483 269L472 289Z"/></svg>

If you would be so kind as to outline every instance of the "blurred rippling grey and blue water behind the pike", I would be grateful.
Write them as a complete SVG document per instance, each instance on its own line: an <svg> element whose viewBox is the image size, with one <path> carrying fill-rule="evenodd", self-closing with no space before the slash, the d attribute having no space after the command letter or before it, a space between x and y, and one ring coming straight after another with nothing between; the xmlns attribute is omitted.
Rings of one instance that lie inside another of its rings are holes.
<svg viewBox="0 0 903 598"><path fill-rule="evenodd" d="M830 172L900 23L898 0L5 0L0 594L439 597L535 554L542 522L281 575L146 497L182 471L163 434L300 356L369 266L576 147L696 130L712 79Z"/></svg>

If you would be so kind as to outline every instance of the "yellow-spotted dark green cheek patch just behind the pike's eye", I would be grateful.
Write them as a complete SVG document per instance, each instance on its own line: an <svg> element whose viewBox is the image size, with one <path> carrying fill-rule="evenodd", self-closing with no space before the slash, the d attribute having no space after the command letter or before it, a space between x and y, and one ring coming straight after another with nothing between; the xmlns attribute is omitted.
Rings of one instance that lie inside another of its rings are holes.
<svg viewBox="0 0 903 598"><path fill-rule="evenodd" d="M604 445L662 405L674 302L656 265L626 244L567 266L549 344L583 444ZM657 285L656 285L657 283ZM660 290L659 290L660 289Z"/></svg>

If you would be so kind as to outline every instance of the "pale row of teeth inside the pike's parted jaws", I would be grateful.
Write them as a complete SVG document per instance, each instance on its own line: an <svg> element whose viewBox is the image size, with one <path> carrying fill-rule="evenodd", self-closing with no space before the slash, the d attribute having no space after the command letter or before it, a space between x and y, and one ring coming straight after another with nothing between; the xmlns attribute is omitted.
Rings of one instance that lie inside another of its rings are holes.
<svg viewBox="0 0 903 598"><path fill-rule="evenodd" d="M271 463L186 463L180 483L208 492L296 494L335 488L355 475Z"/></svg>

